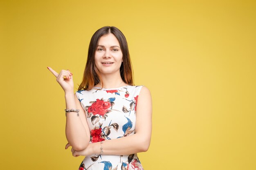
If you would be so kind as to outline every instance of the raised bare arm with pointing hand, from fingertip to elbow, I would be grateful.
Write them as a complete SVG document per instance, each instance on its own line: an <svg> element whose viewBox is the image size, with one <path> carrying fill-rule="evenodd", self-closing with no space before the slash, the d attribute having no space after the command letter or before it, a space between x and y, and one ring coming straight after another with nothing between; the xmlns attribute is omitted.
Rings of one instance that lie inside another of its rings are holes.
<svg viewBox="0 0 256 170"><path fill-rule="evenodd" d="M86 122L85 111L77 99L76 94L73 94L73 74L69 70L61 70L60 73L57 73L51 67L47 68L56 77L56 81L65 92L66 108L80 110L79 117L74 112L67 114L66 138L74 149L83 150L88 146L90 141L90 131Z"/></svg>

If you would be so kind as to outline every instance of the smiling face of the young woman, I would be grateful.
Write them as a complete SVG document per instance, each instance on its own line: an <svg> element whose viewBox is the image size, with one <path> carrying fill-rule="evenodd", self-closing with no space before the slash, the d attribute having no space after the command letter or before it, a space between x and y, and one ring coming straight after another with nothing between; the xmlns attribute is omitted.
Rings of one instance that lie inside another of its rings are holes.
<svg viewBox="0 0 256 170"><path fill-rule="evenodd" d="M101 74L119 73L123 53L114 34L103 35L95 52L95 65Z"/></svg>

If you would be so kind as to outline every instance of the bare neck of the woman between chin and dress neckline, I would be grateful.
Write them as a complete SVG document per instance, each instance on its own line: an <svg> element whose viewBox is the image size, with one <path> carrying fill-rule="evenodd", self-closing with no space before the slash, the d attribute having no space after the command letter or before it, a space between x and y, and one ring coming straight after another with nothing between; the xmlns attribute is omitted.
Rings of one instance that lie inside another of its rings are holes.
<svg viewBox="0 0 256 170"><path fill-rule="evenodd" d="M123 82L120 73L117 73L116 75L101 75L101 79L103 82L104 88L117 88L121 86L125 86L125 82ZM101 86L102 84L97 84Z"/></svg>

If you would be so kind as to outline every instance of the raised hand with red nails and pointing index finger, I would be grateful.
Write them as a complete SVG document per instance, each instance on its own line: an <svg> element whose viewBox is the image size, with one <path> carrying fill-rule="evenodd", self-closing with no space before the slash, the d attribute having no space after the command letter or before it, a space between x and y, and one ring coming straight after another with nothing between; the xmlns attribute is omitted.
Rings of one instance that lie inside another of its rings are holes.
<svg viewBox="0 0 256 170"><path fill-rule="evenodd" d="M61 70L60 73L57 73L51 67L47 67L47 68L56 77L56 81L58 82L58 84L61 85L65 93L67 92L73 93L73 89L74 89L74 82L72 77L73 74L69 70Z"/></svg>

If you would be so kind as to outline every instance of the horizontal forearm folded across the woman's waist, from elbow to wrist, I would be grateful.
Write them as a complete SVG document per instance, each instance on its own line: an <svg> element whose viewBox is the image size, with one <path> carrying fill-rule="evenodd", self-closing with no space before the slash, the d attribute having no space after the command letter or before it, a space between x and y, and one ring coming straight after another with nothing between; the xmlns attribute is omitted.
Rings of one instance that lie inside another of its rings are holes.
<svg viewBox="0 0 256 170"><path fill-rule="evenodd" d="M103 141L103 155L130 155L138 152L146 152L150 145L150 137L139 134L129 135L118 139ZM96 154L101 152L99 142L93 143L92 148Z"/></svg>

